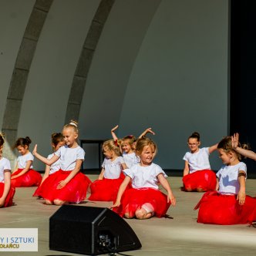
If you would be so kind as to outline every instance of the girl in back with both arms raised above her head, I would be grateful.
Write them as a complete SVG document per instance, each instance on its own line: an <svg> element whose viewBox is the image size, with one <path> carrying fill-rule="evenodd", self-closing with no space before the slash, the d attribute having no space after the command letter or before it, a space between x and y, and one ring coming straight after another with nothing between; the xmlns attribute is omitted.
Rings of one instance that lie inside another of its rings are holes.
<svg viewBox="0 0 256 256"><path fill-rule="evenodd" d="M123 137L123 139L118 140L115 133L117 128L118 125L111 130L111 135L113 136L113 140L115 141L116 145L120 145L120 151L123 155L124 162L126 163L126 166L130 168L133 166L133 164L140 163L139 157L137 157L134 152L136 147L136 137L133 135L128 135ZM155 134L151 128L148 128L140 134L139 139L145 136L147 133Z"/></svg>

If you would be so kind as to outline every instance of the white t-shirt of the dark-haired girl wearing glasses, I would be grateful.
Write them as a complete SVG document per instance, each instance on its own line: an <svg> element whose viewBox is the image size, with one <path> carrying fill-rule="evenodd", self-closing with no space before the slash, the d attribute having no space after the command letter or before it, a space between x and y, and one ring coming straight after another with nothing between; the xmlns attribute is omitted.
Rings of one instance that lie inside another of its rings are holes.
<svg viewBox="0 0 256 256"><path fill-rule="evenodd" d="M188 162L190 173L194 173L197 170L210 170L209 155L209 147L203 147L197 153L185 153L183 160Z"/></svg>

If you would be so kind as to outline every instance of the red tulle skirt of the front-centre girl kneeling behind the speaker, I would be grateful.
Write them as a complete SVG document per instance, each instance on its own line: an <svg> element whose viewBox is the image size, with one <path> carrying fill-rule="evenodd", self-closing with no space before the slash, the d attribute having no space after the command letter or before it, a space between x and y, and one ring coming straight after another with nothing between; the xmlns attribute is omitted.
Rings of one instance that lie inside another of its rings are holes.
<svg viewBox="0 0 256 256"><path fill-rule="evenodd" d="M121 217L125 213L134 216L136 210L139 210L146 203L152 204L156 217L164 217L170 207L170 201L167 203L166 194L151 187L143 187L126 190L121 199L120 207L113 208L113 211Z"/></svg>

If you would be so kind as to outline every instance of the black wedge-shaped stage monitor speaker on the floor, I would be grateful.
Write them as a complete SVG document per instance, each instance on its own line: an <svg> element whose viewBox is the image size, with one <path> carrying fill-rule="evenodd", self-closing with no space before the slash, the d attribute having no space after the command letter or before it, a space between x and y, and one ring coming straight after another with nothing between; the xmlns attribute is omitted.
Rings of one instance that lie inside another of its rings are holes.
<svg viewBox="0 0 256 256"><path fill-rule="evenodd" d="M49 248L77 254L106 254L141 248L136 234L108 208L63 205L49 219Z"/></svg>

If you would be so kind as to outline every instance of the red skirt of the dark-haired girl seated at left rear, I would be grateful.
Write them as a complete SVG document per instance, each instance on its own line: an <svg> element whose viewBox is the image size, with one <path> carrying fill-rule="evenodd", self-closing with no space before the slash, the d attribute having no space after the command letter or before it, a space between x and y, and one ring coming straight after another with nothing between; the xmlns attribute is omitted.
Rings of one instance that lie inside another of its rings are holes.
<svg viewBox="0 0 256 256"><path fill-rule="evenodd" d="M19 174L23 169L18 169L15 173L12 173L11 177ZM19 176L11 180L12 187L34 187L39 186L42 176L35 170L28 170L22 176Z"/></svg>

